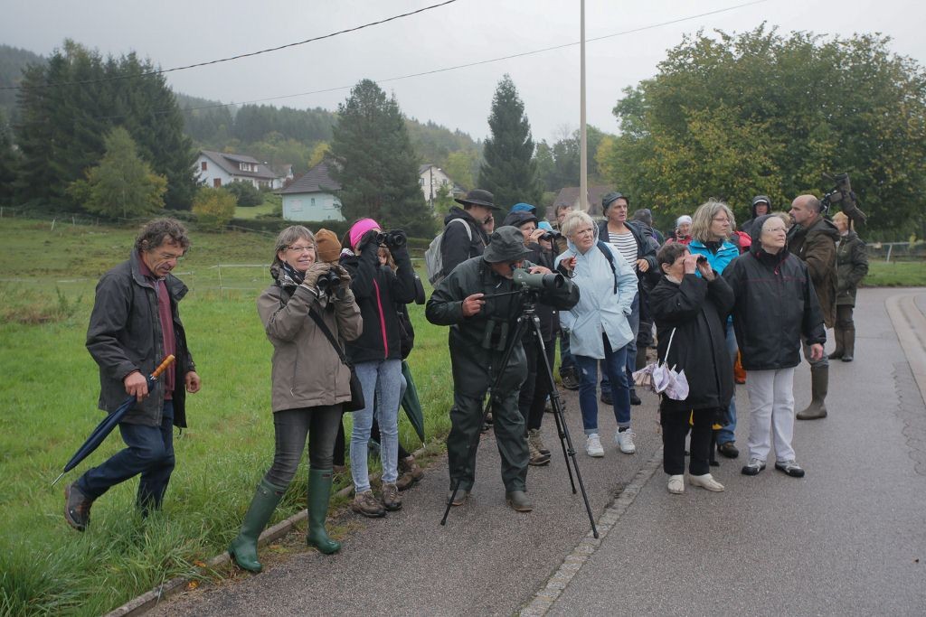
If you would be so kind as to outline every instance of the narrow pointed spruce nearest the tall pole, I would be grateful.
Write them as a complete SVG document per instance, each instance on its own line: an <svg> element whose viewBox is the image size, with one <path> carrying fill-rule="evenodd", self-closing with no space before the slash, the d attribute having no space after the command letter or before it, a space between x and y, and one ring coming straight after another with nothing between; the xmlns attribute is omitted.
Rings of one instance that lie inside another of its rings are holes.
<svg viewBox="0 0 926 617"><path fill-rule="evenodd" d="M489 116L492 136L485 141L479 188L492 191L495 204L510 208L519 202L538 204L543 188L533 160L531 123L509 75L498 82Z"/></svg>

